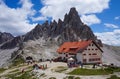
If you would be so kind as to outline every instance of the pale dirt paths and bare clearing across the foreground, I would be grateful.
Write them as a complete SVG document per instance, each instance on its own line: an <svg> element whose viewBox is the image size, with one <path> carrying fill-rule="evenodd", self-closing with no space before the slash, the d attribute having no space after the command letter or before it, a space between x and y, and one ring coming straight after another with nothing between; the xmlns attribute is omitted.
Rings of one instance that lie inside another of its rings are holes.
<svg viewBox="0 0 120 79"><path fill-rule="evenodd" d="M62 63L62 62L42 62L39 63L38 65L46 65L47 64L47 69L46 70L35 70L35 72L37 72L37 76L39 77L39 79L49 79L50 77L55 77L56 79L63 79L66 76L69 76L68 74L66 74L67 72L72 71L74 68L69 68L67 71L62 72L62 73L58 73L55 72L54 69L58 66L67 66L66 63ZM13 69L8 69L6 71L4 71L3 73L0 73L0 76L5 76L7 74L10 74L10 72L14 71L14 70L21 70L21 69L26 69L29 66L32 65L28 65L28 66L21 66L21 67L17 67L17 68L13 68ZM45 73L44 77L41 77L41 73ZM115 75L120 75L120 73L115 73ZM110 77L110 75L96 75L96 76L79 76L79 75L74 75L75 77L80 77L81 79L107 79L108 77Z"/></svg>

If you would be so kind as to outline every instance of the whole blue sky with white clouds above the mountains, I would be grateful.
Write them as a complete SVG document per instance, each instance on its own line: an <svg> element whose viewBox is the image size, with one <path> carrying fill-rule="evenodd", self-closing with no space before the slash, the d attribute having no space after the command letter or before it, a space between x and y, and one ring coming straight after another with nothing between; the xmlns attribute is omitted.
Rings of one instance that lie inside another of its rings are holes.
<svg viewBox="0 0 120 79"><path fill-rule="evenodd" d="M120 0L0 0L0 31L22 35L76 7L81 20L109 45L120 46Z"/></svg>

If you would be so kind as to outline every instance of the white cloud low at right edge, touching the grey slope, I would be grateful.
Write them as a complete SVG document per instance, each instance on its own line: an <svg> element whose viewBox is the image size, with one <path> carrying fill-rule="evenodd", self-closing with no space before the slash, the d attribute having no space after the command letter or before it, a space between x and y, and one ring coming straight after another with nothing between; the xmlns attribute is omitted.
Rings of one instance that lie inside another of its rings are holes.
<svg viewBox="0 0 120 79"><path fill-rule="evenodd" d="M120 46L120 29L113 32L95 33L95 35L105 44Z"/></svg>

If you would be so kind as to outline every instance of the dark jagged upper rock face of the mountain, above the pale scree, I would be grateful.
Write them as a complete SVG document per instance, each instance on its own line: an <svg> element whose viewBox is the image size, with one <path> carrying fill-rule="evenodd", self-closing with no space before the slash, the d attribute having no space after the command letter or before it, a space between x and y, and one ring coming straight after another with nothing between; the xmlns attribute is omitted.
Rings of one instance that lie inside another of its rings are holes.
<svg viewBox="0 0 120 79"><path fill-rule="evenodd" d="M15 37L0 48L14 48L20 46L23 42L37 39L42 39L45 43L51 41L52 43L57 43L57 45L60 45L65 41L79 41L82 39L96 40L90 27L82 23L76 9L71 8L69 13L65 14L63 21L59 19L58 22L54 20L50 23L46 21L42 25L38 24L27 34Z"/></svg>

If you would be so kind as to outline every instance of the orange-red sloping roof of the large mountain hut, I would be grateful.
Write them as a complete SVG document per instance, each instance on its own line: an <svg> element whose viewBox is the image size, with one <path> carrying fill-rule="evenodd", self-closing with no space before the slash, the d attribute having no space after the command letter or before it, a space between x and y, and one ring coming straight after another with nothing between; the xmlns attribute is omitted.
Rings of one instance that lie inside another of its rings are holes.
<svg viewBox="0 0 120 79"><path fill-rule="evenodd" d="M78 51L84 50L92 40L79 41L79 42L65 42L57 50L58 53L71 53L76 54Z"/></svg>

